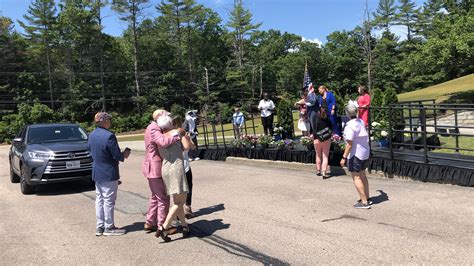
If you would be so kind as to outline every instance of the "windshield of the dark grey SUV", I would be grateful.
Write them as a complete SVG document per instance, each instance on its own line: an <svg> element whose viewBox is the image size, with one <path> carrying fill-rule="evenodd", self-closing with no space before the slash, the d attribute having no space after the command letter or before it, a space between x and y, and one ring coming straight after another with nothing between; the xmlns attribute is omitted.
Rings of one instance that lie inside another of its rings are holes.
<svg viewBox="0 0 474 266"><path fill-rule="evenodd" d="M81 140L87 140L87 134L75 125L33 127L28 130L28 144Z"/></svg>

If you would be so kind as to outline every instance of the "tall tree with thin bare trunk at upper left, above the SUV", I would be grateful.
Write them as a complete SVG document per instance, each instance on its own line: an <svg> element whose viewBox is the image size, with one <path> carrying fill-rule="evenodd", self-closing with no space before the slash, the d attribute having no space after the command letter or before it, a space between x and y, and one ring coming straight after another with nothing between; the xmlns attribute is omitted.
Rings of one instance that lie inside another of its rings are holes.
<svg viewBox="0 0 474 266"><path fill-rule="evenodd" d="M31 41L29 53L32 56L39 54L39 57L46 61L50 105L51 108L54 108L53 62L51 58L51 47L54 45L57 24L57 10L54 0L34 0L27 12L28 14L23 16L26 22L19 21L19 23L25 30L26 38Z"/></svg>

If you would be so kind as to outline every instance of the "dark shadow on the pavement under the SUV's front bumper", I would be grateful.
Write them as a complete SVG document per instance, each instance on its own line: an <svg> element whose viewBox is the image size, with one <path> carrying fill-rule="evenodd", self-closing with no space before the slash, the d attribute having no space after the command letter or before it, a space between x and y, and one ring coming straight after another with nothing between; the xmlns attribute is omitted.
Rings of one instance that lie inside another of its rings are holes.
<svg viewBox="0 0 474 266"><path fill-rule="evenodd" d="M36 186L36 196L60 196L78 194L95 190L95 185L89 181L74 181L67 183L45 184Z"/></svg>

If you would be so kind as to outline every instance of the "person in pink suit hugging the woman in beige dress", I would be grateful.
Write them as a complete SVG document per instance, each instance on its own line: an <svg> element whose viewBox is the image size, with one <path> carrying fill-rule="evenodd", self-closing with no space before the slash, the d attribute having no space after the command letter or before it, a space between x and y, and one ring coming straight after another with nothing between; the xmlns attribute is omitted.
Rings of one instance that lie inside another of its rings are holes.
<svg viewBox="0 0 474 266"><path fill-rule="evenodd" d="M142 174L147 178L151 192L144 225L144 230L147 233L154 232L163 225L170 206L170 197L165 193L165 185L161 176L162 158L158 148L166 148L180 141L180 137L179 135L165 136L156 123L161 116L168 115L170 113L166 110L155 110L152 114L153 121L145 130L145 158L142 163Z"/></svg>

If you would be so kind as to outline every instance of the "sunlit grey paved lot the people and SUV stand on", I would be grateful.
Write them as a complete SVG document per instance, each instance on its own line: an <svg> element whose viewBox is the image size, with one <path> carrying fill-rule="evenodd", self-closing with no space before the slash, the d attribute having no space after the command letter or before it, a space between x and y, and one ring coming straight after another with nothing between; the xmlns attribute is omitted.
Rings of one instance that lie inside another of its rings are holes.
<svg viewBox="0 0 474 266"><path fill-rule="evenodd" d="M161 243L142 231L149 195L143 153L121 165L116 224L96 237L94 191L42 187L23 196L0 146L0 264L473 264L474 188L371 178L371 210L351 179L225 162L192 163L193 236Z"/></svg>

